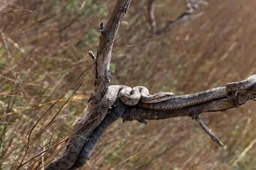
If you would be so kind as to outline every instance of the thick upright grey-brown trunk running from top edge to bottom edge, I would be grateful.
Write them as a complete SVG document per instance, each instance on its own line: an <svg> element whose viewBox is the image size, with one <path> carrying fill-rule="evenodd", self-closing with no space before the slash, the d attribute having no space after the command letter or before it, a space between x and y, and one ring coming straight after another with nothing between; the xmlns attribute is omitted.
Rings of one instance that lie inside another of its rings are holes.
<svg viewBox="0 0 256 170"><path fill-rule="evenodd" d="M73 127L72 136L67 141L67 147L63 155L53 160L46 169L75 168L81 165L79 162L84 162L84 159L86 159L81 156L82 148L108 112L107 104L102 105L100 101L110 82L109 67L115 35L130 2L131 0L117 0L105 27L102 23L100 24L101 35L95 67L96 78L89 107L86 108L80 120Z"/></svg>

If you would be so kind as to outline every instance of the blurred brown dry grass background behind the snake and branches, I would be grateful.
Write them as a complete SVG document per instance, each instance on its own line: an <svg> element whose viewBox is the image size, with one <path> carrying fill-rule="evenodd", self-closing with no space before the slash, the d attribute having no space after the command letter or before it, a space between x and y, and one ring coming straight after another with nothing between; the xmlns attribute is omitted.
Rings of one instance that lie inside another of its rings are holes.
<svg viewBox="0 0 256 170"><path fill-rule="evenodd" d="M117 37L129 30L114 44L112 84L182 95L255 74L256 1L207 2L195 11L203 16L152 36L147 1L133 0ZM2 0L0 169L39 169L61 150L61 141L86 107L93 69L65 91L92 64L88 51L96 54L98 25L106 23L114 3ZM157 0L155 6L158 28L186 10L185 1L178 0ZM255 103L248 101L237 109L202 115L225 143L222 148L189 117L148 125L119 120L81 169L256 169L255 111Z"/></svg>

